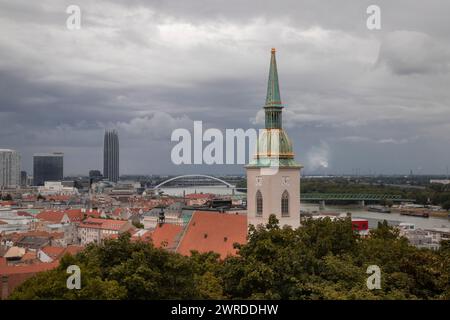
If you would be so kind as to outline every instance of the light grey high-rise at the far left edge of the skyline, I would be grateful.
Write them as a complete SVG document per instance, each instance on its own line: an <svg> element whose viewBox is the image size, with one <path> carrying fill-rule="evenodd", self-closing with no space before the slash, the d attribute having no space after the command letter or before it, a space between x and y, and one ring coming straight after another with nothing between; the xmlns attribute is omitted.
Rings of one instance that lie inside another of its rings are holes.
<svg viewBox="0 0 450 320"><path fill-rule="evenodd" d="M20 154L15 150L0 149L0 187L20 185Z"/></svg>

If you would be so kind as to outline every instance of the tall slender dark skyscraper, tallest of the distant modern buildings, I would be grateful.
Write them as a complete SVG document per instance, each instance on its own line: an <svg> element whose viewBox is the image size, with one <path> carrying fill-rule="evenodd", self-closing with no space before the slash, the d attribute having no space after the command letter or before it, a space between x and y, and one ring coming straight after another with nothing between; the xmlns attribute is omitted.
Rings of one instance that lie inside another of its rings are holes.
<svg viewBox="0 0 450 320"><path fill-rule="evenodd" d="M106 130L103 144L103 177L119 181L119 135L116 130Z"/></svg>

